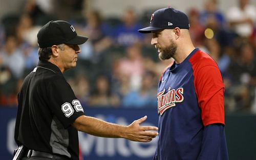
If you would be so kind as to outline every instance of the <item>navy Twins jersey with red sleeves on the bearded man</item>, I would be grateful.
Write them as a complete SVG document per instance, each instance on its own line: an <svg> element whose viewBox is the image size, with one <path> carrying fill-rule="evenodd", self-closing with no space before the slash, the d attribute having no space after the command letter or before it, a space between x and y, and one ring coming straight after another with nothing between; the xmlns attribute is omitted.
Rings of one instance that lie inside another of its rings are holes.
<svg viewBox="0 0 256 160"><path fill-rule="evenodd" d="M181 64L167 67L158 84L159 140L154 159L197 159L204 127L224 125L223 94L216 62L198 48Z"/></svg>

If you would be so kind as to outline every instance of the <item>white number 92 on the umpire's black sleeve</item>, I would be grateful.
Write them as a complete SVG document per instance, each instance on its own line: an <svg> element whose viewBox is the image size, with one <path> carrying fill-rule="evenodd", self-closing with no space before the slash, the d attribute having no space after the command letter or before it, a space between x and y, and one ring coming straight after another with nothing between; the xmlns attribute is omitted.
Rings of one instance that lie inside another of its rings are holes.
<svg viewBox="0 0 256 160"><path fill-rule="evenodd" d="M82 105L80 104L78 99L74 99L72 101L72 104L74 105L74 108L77 112L83 112ZM61 105L61 110L62 110L63 113L65 113L66 117L70 117L74 113L74 109L73 109L72 105L68 102Z"/></svg>

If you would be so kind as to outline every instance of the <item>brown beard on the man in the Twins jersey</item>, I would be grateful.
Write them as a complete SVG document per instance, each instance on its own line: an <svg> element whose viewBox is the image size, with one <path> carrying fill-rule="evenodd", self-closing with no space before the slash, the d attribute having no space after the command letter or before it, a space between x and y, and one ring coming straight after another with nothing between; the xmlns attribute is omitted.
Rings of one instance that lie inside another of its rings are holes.
<svg viewBox="0 0 256 160"><path fill-rule="evenodd" d="M163 61L165 59L169 59L174 57L176 50L177 50L177 44L171 40L171 45L168 47L161 48L161 53L159 53L159 58Z"/></svg>

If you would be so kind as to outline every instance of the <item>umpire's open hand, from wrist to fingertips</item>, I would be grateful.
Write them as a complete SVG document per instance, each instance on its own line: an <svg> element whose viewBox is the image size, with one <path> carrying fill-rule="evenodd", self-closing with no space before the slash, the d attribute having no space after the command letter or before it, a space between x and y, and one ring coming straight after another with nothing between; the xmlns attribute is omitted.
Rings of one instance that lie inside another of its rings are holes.
<svg viewBox="0 0 256 160"><path fill-rule="evenodd" d="M127 126L125 138L131 141L151 142L158 135L158 128L154 126L140 126L146 121L147 116L135 120L131 125Z"/></svg>

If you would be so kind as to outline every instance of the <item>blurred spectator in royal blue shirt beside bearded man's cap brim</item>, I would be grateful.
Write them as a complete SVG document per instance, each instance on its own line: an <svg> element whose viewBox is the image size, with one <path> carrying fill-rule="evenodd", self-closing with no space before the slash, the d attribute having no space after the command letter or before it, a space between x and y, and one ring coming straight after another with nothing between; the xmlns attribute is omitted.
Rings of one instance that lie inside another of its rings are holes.
<svg viewBox="0 0 256 160"><path fill-rule="evenodd" d="M142 28L137 22L137 16L133 8L124 10L122 24L117 25L114 33L114 39L117 45L127 47L135 43L140 43L144 35L138 30Z"/></svg>

